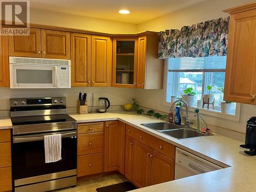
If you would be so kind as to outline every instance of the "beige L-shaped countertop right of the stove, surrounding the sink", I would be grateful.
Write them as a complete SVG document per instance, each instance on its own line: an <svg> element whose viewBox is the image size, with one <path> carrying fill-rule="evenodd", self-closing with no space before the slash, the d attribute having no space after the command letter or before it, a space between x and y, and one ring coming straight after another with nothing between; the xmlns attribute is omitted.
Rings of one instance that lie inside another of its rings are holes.
<svg viewBox="0 0 256 192"><path fill-rule="evenodd" d="M135 115L132 112L74 114L71 116L78 123L120 120L212 163L228 167L214 172L140 188L137 189L138 191L256 191L256 156L244 154L239 148L239 145L242 144L240 141L219 135L178 140L140 125L141 123L160 120L144 115Z"/></svg>

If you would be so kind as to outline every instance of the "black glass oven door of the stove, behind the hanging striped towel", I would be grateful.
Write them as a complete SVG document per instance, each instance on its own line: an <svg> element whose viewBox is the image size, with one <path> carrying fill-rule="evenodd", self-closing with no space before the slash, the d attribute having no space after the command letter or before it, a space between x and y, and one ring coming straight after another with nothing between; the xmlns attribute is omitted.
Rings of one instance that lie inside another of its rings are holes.
<svg viewBox="0 0 256 192"><path fill-rule="evenodd" d="M39 183L58 178L76 176L77 132L61 134L61 160L45 163L44 135L34 134L12 137L12 174L14 186Z"/></svg>

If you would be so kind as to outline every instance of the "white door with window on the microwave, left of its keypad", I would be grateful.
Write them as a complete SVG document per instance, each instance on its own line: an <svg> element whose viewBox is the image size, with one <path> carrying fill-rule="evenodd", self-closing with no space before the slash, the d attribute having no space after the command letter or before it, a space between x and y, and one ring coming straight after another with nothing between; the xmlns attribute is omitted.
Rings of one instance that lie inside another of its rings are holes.
<svg viewBox="0 0 256 192"><path fill-rule="evenodd" d="M58 67L10 64L10 87L58 88Z"/></svg>

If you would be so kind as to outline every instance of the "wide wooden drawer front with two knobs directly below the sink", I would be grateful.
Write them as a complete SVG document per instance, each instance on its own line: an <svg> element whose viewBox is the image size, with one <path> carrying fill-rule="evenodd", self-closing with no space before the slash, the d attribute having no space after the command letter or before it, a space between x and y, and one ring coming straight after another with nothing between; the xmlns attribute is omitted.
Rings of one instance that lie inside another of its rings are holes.
<svg viewBox="0 0 256 192"><path fill-rule="evenodd" d="M163 141L157 137L154 137L137 129L134 129L134 139L153 148L157 152L171 159L175 158L175 146L173 144L170 144L166 141Z"/></svg>

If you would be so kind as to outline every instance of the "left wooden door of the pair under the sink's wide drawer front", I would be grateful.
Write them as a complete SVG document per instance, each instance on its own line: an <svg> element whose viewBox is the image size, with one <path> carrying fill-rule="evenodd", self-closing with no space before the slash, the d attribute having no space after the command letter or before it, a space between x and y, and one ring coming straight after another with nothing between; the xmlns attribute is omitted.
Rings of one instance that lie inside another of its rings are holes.
<svg viewBox="0 0 256 192"><path fill-rule="evenodd" d="M137 187L150 185L151 148L134 141L133 183Z"/></svg>

